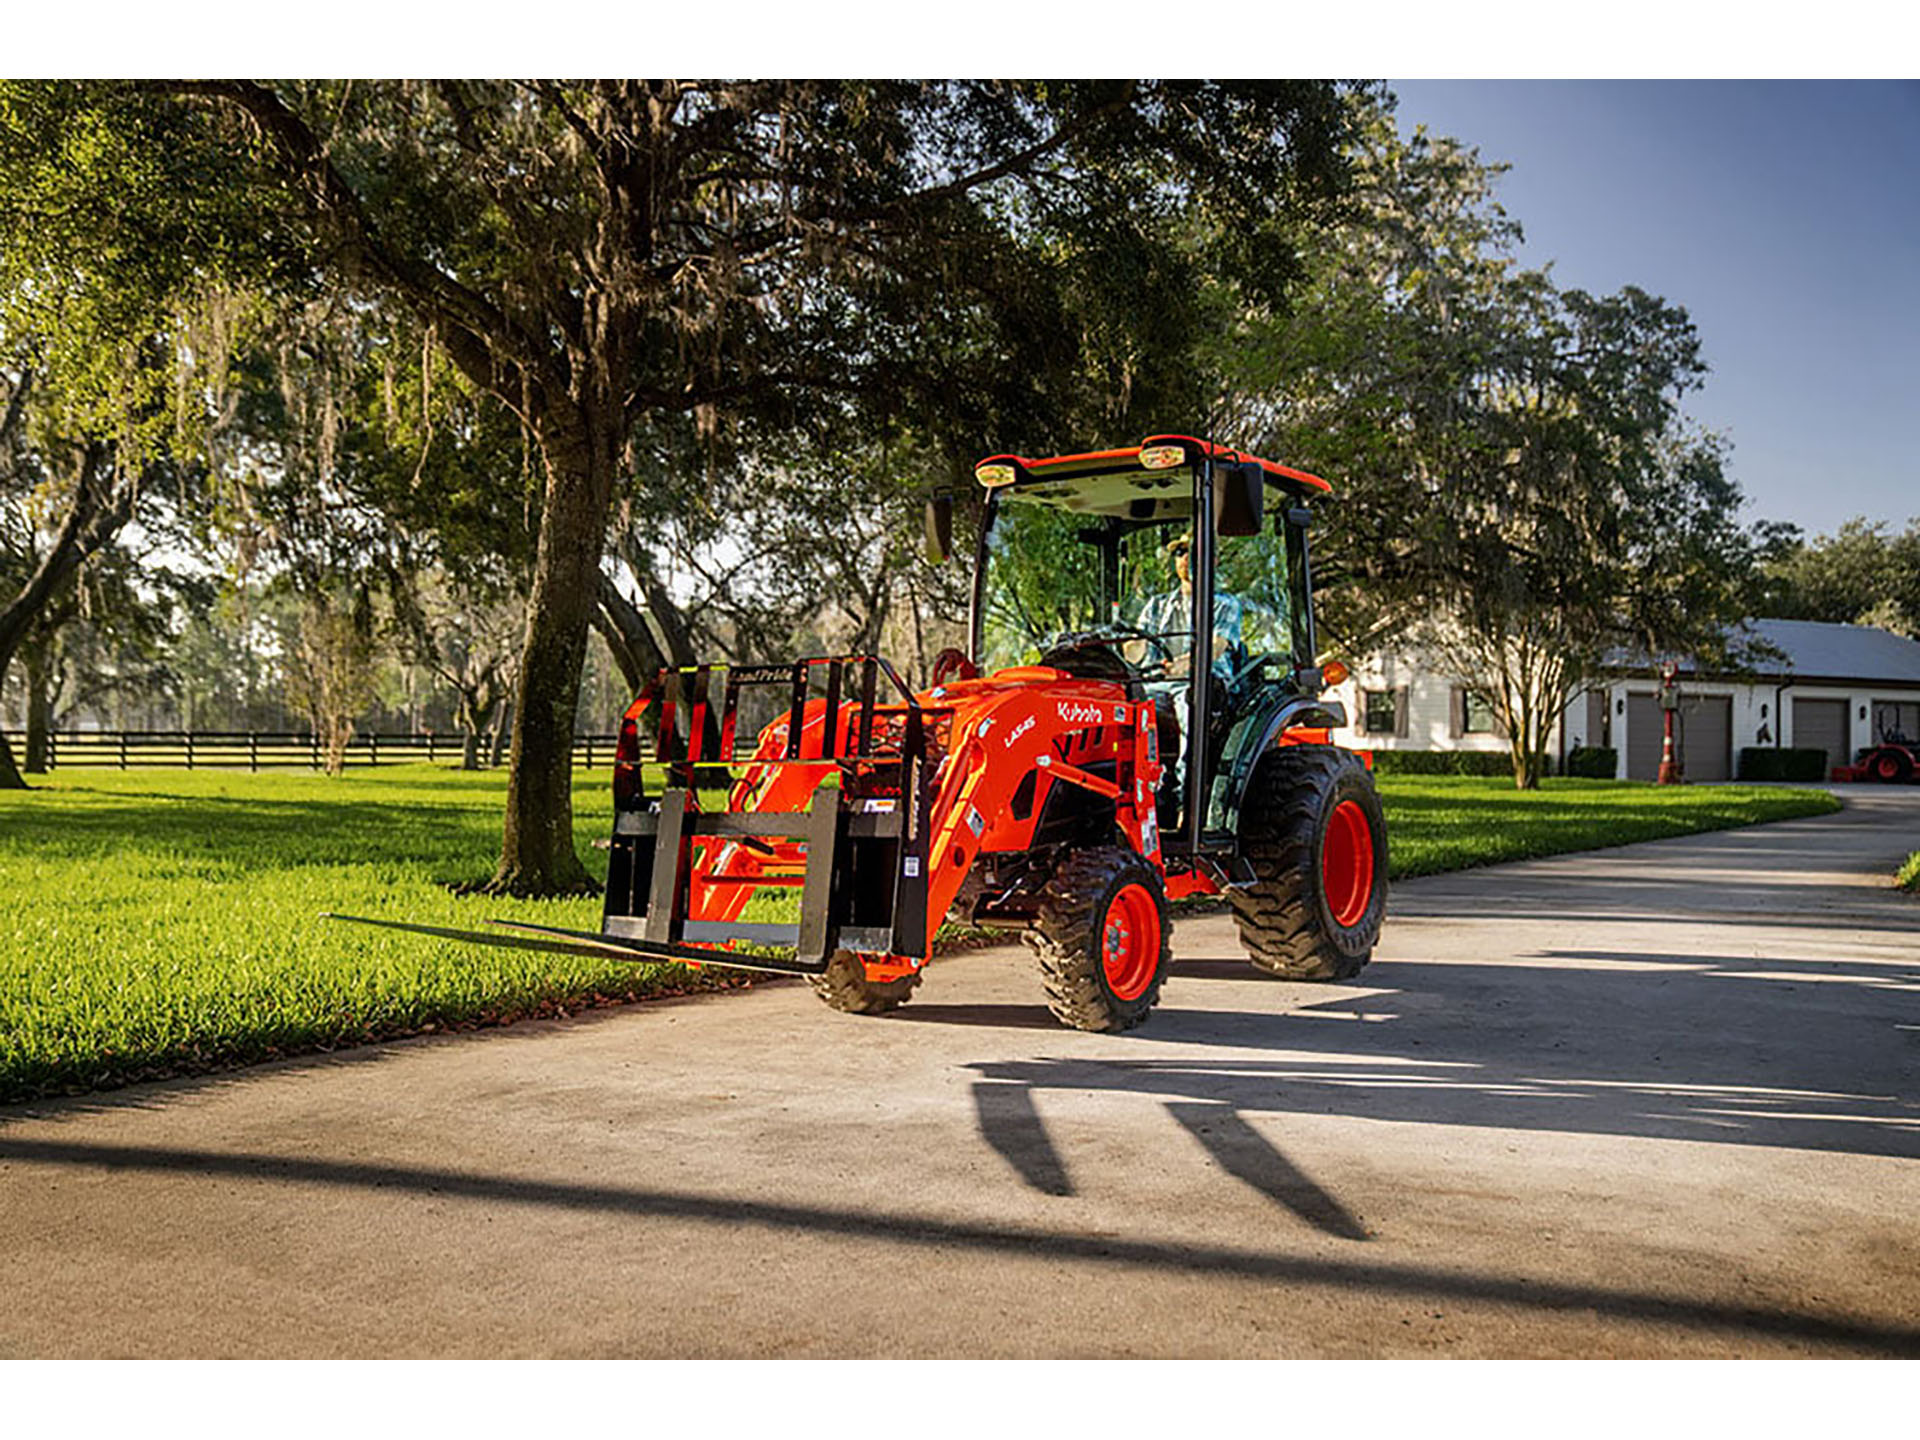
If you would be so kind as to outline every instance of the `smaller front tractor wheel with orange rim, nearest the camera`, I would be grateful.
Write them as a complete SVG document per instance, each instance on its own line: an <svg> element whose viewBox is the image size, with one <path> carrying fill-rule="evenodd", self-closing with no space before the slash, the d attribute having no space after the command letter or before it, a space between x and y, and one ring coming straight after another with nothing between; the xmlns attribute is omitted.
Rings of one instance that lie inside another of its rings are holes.
<svg viewBox="0 0 1920 1440"><path fill-rule="evenodd" d="M1165 885L1133 851L1079 851L1046 881L1021 939L1041 962L1056 1020L1073 1029L1133 1029L1160 1000L1173 962Z"/></svg>

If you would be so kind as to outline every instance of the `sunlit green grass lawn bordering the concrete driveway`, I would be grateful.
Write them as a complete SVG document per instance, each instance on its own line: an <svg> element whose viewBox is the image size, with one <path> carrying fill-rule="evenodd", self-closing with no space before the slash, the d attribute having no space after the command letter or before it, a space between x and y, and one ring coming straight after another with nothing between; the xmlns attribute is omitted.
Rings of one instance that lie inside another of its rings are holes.
<svg viewBox="0 0 1920 1440"><path fill-rule="evenodd" d="M697 985L680 966L482 948L321 920L597 929L599 900L455 897L499 847L499 774L69 770L0 791L0 1102L219 1069ZM1837 808L1816 791L1386 776L1394 874ZM578 772L580 854L611 822ZM735 972L737 973L737 972Z"/></svg>

